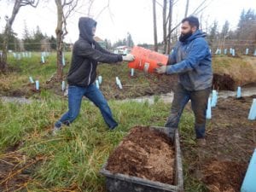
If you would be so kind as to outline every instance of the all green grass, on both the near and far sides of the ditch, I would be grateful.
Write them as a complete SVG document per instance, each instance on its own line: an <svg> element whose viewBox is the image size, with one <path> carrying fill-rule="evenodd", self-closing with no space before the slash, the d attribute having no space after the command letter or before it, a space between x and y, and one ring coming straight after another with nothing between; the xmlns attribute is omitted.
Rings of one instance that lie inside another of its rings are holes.
<svg viewBox="0 0 256 192"><path fill-rule="evenodd" d="M67 62L70 61L69 53L66 57ZM218 61L222 63L219 67L214 67L214 64L213 68L218 70L221 66L229 65L230 61L222 61ZM30 84L29 76L39 79L44 86L44 82L55 73L55 55L49 55L46 62L40 63L39 54L20 61L10 58L9 63L15 70L0 76L2 93L27 89ZM67 69L68 65L65 73ZM129 81L129 69L125 63L121 67L118 64L112 67L102 65L99 69L104 78L109 77L114 81L115 76L119 76L120 79ZM141 76L131 82L131 85L137 84L147 85L147 82ZM110 100L110 108L119 126L114 131L108 131L99 110L84 99L79 118L53 137L50 132L55 121L67 111L67 98L56 96L53 90L47 89L32 94L30 98L31 104L0 101L0 160L13 155L17 167L21 171L26 167L30 176L19 183L18 191L105 191L104 177L99 174L99 170L108 159L108 154L131 127L164 125L170 108L166 103L160 102L157 96L152 105L148 102ZM195 144L193 118L189 111L183 113L180 123L183 143ZM185 160L183 167L185 191L206 191L203 183L189 176L188 162ZM0 181L1 184L3 181Z"/></svg>

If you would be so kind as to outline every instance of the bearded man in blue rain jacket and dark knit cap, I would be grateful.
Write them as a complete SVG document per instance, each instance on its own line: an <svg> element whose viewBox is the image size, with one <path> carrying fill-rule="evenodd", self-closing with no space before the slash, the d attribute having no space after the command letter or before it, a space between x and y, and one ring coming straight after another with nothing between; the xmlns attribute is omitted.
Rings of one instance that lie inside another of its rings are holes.
<svg viewBox="0 0 256 192"><path fill-rule="evenodd" d="M195 114L195 136L198 145L206 145L207 101L212 86L212 56L199 30L199 20L189 16L182 20L181 35L169 56L167 66L159 64L156 73L178 74L171 113L166 127L177 128L183 108L191 101Z"/></svg>

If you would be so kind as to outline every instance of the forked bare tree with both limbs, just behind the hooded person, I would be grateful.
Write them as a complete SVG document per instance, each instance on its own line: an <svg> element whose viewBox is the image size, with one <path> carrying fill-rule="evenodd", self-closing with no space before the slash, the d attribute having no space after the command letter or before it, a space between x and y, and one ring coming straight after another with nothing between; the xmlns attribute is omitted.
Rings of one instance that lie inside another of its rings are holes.
<svg viewBox="0 0 256 192"><path fill-rule="evenodd" d="M55 80L61 81L63 79L63 49L64 38L67 35L67 18L77 7L79 0L55 0L57 7L57 27L55 29L56 34L56 51L57 51L57 73Z"/></svg>

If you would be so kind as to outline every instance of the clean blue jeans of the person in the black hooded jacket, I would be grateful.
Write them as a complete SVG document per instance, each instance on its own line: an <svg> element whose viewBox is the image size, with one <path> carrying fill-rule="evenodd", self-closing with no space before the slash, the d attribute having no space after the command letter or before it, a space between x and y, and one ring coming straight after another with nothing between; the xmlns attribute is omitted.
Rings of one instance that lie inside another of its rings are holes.
<svg viewBox="0 0 256 192"><path fill-rule="evenodd" d="M68 111L55 123L56 127L61 127L61 124L69 125L78 117L83 96L101 110L102 117L110 129L118 125L101 90L96 88L95 84L90 84L88 87L68 86Z"/></svg>

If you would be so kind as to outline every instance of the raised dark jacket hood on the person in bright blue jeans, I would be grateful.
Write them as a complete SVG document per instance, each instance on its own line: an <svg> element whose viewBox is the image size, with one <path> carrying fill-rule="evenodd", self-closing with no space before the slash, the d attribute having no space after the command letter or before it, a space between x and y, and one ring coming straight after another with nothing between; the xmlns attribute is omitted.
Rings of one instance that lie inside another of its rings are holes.
<svg viewBox="0 0 256 192"><path fill-rule="evenodd" d="M92 27L96 27L96 21L89 18L89 17L80 17L79 18L79 38L83 38L84 40L89 41L92 43L93 34L92 34Z"/></svg>

